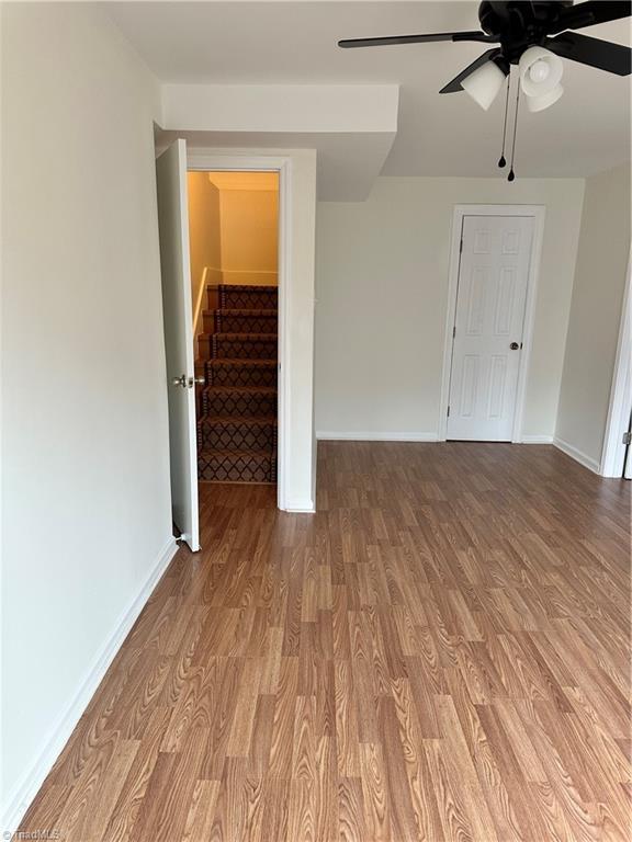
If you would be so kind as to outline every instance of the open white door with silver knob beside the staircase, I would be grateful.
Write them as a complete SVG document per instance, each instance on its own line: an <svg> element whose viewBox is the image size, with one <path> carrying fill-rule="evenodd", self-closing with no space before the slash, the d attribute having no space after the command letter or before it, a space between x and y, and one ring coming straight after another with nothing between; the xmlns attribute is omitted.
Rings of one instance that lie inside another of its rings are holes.
<svg viewBox="0 0 632 842"><path fill-rule="evenodd" d="M184 140L177 140L158 158L156 180L169 395L171 508L182 539L196 551L200 549L198 442Z"/></svg>

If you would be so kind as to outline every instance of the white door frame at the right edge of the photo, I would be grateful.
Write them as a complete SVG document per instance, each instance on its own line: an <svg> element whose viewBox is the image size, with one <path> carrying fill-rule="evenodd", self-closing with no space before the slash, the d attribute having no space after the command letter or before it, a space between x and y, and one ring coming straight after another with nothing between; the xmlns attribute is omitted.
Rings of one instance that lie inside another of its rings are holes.
<svg viewBox="0 0 632 842"><path fill-rule="evenodd" d="M630 294L630 271L632 263L632 250L628 258L628 272L625 275L625 289L623 292L623 309L619 322L619 339L617 342L617 356L610 387L610 401L608 405L608 419L603 435L603 450L599 474L602 477L623 476L625 450L622 446L623 433L628 432L630 410L632 407L632 325L630 308L632 298Z"/></svg>

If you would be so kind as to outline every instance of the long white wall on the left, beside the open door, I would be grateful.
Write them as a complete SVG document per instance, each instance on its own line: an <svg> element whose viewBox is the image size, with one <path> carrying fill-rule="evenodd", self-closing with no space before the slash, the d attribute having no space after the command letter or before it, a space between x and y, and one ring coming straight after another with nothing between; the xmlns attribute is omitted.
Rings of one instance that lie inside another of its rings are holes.
<svg viewBox="0 0 632 842"><path fill-rule="evenodd" d="M158 109L102 12L2 4L3 828L172 551Z"/></svg>

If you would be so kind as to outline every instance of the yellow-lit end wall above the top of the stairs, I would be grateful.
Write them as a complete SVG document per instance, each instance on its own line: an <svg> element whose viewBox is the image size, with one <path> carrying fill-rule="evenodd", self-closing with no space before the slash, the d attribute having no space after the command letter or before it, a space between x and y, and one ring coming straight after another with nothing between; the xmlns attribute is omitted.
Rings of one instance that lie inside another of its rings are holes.
<svg viewBox="0 0 632 842"><path fill-rule="evenodd" d="M270 273L267 283L276 283L278 191L223 189L221 208L223 271Z"/></svg>

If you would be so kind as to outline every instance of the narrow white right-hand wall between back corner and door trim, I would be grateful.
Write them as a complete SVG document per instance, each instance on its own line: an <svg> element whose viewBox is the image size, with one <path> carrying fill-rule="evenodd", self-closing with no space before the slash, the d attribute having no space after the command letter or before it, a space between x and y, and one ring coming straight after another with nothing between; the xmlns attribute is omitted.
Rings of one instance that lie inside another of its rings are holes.
<svg viewBox="0 0 632 842"><path fill-rule="evenodd" d="M586 181L556 436L598 469L630 255L630 164Z"/></svg>

